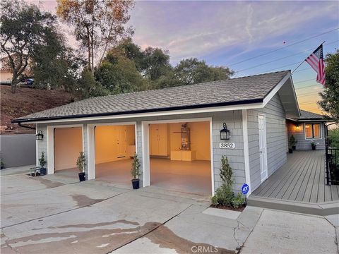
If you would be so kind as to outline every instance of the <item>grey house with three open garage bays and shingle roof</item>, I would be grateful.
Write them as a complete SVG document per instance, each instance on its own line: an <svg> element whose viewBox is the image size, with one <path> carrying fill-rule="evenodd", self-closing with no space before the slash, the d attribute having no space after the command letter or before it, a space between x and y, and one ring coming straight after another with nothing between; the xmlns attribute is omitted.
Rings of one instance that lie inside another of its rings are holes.
<svg viewBox="0 0 339 254"><path fill-rule="evenodd" d="M234 171L234 191L247 183L253 193L287 163L289 135L307 149L325 129L322 119L299 110L290 71L93 97L13 122L35 123L37 159L44 152L47 174L77 174L84 152L88 180L131 185L136 152L141 187L196 195L213 195L221 185L222 155ZM299 134L297 126L313 131Z"/></svg>

